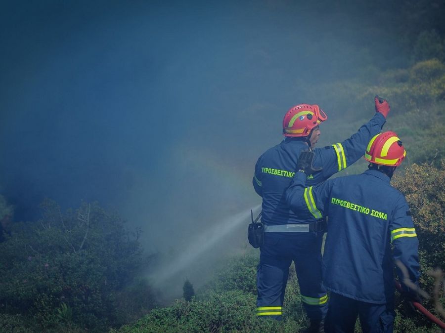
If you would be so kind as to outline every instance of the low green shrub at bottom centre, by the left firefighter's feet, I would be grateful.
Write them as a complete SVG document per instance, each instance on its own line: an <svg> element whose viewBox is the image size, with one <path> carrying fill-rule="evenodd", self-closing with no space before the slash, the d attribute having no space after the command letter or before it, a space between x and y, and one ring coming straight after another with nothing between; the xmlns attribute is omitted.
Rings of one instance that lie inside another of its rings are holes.
<svg viewBox="0 0 445 333"><path fill-rule="evenodd" d="M256 296L242 291L212 292L208 298L152 310L135 324L112 331L148 332L299 332L304 324L290 317L281 322L260 319L255 314Z"/></svg>

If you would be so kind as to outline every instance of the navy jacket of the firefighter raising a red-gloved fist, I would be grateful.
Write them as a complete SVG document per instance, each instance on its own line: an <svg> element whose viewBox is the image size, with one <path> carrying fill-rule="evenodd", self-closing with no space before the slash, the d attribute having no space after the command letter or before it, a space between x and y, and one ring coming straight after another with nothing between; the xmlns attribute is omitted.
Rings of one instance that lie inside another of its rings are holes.
<svg viewBox="0 0 445 333"><path fill-rule="evenodd" d="M332 146L315 148L313 166L323 169L308 179L308 184L318 184L334 173L351 166L363 156L371 138L378 134L385 118L376 113L374 117L349 139ZM295 214L286 203L284 192L292 182L297 160L303 150L308 150L304 138L286 138L268 149L255 166L253 186L263 197L262 222L267 225L307 223Z"/></svg>

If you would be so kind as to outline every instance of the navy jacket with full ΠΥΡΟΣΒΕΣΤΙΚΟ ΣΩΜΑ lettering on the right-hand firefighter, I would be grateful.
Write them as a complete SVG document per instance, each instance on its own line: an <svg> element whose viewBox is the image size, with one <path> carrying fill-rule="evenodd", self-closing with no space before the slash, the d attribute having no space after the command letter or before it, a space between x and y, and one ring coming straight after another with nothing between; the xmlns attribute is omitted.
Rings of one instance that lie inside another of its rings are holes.
<svg viewBox="0 0 445 333"><path fill-rule="evenodd" d="M418 241L411 213L387 175L367 170L308 188L305 181L304 172L295 174L286 201L308 220L327 217L323 256L327 290L368 303L391 302L395 260L417 283Z"/></svg>

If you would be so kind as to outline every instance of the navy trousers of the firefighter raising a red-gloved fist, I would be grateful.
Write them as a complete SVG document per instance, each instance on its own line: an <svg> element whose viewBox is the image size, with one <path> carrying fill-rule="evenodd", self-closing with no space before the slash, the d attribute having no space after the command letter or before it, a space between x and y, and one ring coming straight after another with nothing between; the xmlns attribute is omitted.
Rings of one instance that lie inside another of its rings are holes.
<svg viewBox="0 0 445 333"><path fill-rule="evenodd" d="M257 315L281 319L289 267L294 261L303 306L312 320L325 318L327 294L321 283L322 233L267 232L257 272Z"/></svg>

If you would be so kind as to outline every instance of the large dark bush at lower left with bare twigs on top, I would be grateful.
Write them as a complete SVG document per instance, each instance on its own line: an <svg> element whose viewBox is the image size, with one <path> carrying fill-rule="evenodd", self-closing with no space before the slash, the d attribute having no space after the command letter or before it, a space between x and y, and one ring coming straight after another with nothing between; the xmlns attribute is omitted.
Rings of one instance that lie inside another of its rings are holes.
<svg viewBox="0 0 445 333"><path fill-rule="evenodd" d="M62 213L46 201L43 208L38 223L15 224L0 244L0 312L29 315L46 331L72 324L103 332L125 323L117 300L141 267L137 235L96 204Z"/></svg>

